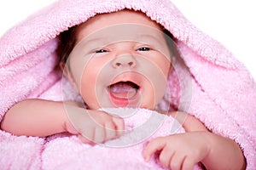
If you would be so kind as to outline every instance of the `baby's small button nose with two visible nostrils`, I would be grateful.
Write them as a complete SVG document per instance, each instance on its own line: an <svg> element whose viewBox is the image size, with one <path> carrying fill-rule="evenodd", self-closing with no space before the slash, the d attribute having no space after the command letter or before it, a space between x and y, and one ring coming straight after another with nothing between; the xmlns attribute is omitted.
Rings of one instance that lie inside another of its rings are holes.
<svg viewBox="0 0 256 170"><path fill-rule="evenodd" d="M133 68L136 66L136 59L131 54L124 54L113 59L112 65L114 68L126 66Z"/></svg>

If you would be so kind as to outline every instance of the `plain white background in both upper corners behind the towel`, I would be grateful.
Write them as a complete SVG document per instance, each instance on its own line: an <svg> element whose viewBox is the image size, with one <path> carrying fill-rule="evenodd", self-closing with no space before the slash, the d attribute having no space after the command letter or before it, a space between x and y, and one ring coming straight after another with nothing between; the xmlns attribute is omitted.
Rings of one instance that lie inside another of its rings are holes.
<svg viewBox="0 0 256 170"><path fill-rule="evenodd" d="M0 37L54 0L0 2ZM253 0L172 0L202 31L223 43L251 71L256 80L256 5Z"/></svg>

